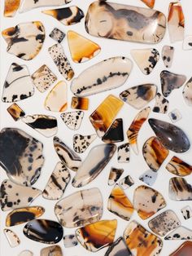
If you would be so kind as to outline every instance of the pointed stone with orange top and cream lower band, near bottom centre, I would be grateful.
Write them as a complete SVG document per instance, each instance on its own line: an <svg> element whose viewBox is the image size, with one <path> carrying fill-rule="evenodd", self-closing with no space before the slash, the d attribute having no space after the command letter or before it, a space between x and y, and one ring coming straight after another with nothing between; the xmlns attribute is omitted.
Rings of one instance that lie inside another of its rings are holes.
<svg viewBox="0 0 192 256"><path fill-rule="evenodd" d="M129 198L124 194L122 188L116 185L108 198L107 210L116 214L124 220L129 220L133 214L133 205Z"/></svg>

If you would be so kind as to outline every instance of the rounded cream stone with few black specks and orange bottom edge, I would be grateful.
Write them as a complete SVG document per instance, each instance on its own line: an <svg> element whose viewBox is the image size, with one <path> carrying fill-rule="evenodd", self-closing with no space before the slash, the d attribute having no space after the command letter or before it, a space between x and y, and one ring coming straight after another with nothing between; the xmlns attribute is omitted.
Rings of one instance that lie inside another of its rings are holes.
<svg viewBox="0 0 192 256"><path fill-rule="evenodd" d="M145 185L134 191L133 206L142 219L150 218L166 206L164 196L153 188Z"/></svg>

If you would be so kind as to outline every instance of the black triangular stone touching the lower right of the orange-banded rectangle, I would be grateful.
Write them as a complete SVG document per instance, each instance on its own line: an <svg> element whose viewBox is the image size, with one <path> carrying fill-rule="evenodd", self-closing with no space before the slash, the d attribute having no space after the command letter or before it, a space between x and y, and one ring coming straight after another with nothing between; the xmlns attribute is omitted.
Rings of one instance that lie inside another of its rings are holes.
<svg viewBox="0 0 192 256"><path fill-rule="evenodd" d="M117 118L115 121L113 121L106 134L103 135L102 141L104 143L118 143L124 141L124 127L122 118Z"/></svg>

